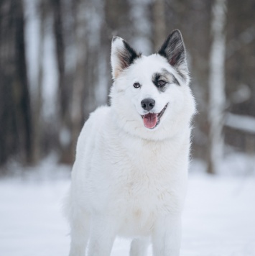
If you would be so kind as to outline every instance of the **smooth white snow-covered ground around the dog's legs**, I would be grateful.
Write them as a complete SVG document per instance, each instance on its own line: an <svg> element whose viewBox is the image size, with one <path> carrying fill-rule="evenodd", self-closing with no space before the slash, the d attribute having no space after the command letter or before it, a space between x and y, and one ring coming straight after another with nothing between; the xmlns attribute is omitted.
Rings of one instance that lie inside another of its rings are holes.
<svg viewBox="0 0 255 256"><path fill-rule="evenodd" d="M38 180L0 180L0 255L68 255L61 201L69 175L45 178L45 167ZM181 256L254 256L255 178L191 173L182 222ZM116 239L111 256L127 256L129 243Z"/></svg>

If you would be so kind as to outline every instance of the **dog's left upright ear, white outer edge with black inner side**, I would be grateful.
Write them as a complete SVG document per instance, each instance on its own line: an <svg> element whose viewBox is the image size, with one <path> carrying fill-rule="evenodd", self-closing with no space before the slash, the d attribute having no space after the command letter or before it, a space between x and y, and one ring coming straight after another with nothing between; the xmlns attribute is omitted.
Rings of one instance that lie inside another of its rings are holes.
<svg viewBox="0 0 255 256"><path fill-rule="evenodd" d="M117 78L122 70L134 63L141 54L137 53L121 37L113 37L111 41L111 69L113 79Z"/></svg>

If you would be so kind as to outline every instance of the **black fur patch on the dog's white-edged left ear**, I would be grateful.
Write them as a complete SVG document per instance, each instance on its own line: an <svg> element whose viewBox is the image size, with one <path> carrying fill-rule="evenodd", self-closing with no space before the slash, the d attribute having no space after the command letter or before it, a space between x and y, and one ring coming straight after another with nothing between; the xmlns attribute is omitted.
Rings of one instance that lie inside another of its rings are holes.
<svg viewBox="0 0 255 256"><path fill-rule="evenodd" d="M128 68L129 65L134 63L136 58L141 57L141 53L136 52L126 41L123 40L124 43L124 50L118 52L118 57L121 64L121 69Z"/></svg>

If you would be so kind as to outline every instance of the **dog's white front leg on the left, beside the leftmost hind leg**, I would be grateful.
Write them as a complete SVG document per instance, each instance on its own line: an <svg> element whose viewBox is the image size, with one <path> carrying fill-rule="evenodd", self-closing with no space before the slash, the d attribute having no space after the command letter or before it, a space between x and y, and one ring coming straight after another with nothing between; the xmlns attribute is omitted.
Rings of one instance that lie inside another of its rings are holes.
<svg viewBox="0 0 255 256"><path fill-rule="evenodd" d="M110 256L116 231L117 223L115 218L94 215L91 223L88 256Z"/></svg>

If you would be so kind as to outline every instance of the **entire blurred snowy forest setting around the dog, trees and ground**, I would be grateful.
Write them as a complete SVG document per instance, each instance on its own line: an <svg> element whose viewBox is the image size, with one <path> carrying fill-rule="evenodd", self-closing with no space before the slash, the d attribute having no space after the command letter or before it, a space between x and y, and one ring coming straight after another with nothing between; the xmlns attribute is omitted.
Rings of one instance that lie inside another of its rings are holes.
<svg viewBox="0 0 255 256"><path fill-rule="evenodd" d="M108 104L111 38L149 55L177 28L198 109L181 255L254 256L254 13L254 0L1 0L0 255L68 255L60 208L80 129Z"/></svg>

